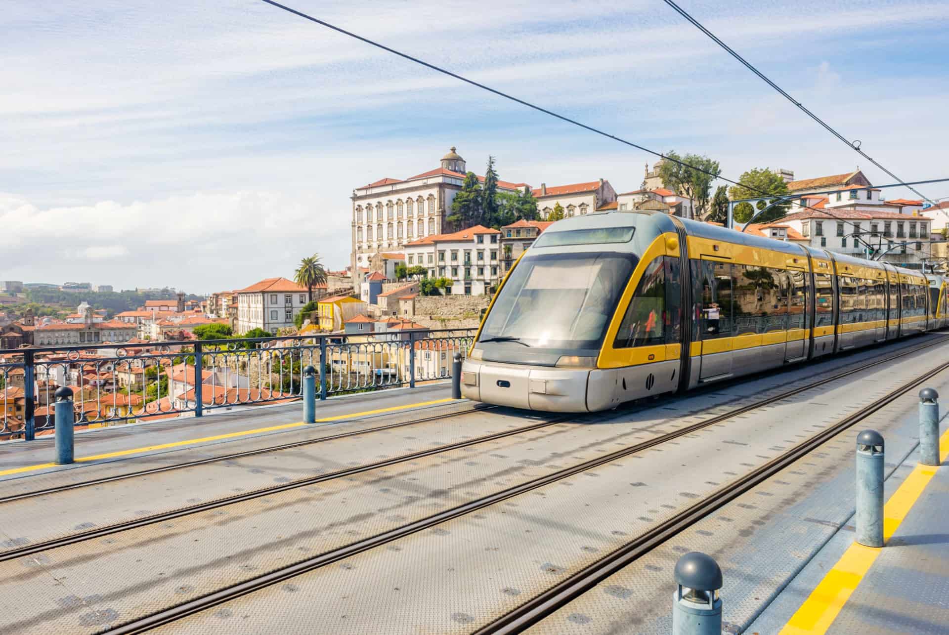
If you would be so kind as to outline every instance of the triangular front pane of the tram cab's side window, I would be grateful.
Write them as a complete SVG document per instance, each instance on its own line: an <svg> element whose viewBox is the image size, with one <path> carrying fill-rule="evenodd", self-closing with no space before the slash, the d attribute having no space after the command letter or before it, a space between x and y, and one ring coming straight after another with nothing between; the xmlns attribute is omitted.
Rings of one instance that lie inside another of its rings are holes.
<svg viewBox="0 0 949 635"><path fill-rule="evenodd" d="M663 260L656 258L642 273L613 341L614 348L665 343L667 285Z"/></svg>

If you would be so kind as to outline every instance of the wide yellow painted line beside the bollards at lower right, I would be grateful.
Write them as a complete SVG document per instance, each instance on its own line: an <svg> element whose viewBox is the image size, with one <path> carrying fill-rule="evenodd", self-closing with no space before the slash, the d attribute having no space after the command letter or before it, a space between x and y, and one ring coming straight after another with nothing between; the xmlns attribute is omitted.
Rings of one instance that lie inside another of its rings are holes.
<svg viewBox="0 0 949 635"><path fill-rule="evenodd" d="M947 456L949 456L949 430L940 437L940 462ZM910 475L902 481L897 491L886 501L884 544L900 527L900 523L906 514L909 514L909 510L920 498L929 481L936 476L936 470L937 468L932 465L917 464ZM881 551L882 549L878 547L865 547L856 542L850 545L820 584L810 592L804 604L791 616L788 624L781 629L781 635L826 633Z"/></svg>

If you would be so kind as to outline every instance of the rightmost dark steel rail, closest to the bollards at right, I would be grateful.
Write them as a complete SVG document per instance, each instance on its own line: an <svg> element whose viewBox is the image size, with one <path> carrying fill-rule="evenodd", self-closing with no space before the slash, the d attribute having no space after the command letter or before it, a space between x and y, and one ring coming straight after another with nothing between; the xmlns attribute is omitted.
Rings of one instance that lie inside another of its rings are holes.
<svg viewBox="0 0 949 635"><path fill-rule="evenodd" d="M745 494L756 485L767 480L791 466L794 461L806 457L811 451L817 449L825 442L833 439L837 435L846 431L848 428L856 425L862 420L883 408L885 405L896 401L902 395L906 394L916 386L928 379L938 375L940 372L949 369L949 362L940 364L936 368L927 371L921 376L908 383L904 383L900 388L893 390L884 397L872 402L857 412L848 415L842 420L828 426L825 430L815 434L794 446L788 452L777 458L772 458L764 465L761 465L748 474L738 477L729 485L717 490L712 495L707 496L695 505L683 510L673 518L662 522L651 530L642 533L636 539L626 543L620 549L607 554L601 560L588 565L583 570L570 575L561 583L548 588L543 593L534 596L528 602L515 608L509 613L501 616L488 626L483 626L474 631L475 635L492 635L519 633L525 628L536 624L550 613L560 607L564 607L571 600L582 595L587 590L596 587L607 577L622 570L628 564L652 551L661 543L679 534L683 530L691 527L693 524L705 516L716 512L719 508L735 500L740 495Z"/></svg>

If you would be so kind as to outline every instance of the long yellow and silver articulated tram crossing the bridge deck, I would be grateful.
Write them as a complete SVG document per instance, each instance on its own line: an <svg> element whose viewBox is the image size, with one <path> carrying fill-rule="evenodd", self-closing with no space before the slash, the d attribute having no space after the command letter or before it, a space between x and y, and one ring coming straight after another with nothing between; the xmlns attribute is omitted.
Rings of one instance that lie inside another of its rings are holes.
<svg viewBox="0 0 949 635"><path fill-rule="evenodd" d="M586 412L944 327L946 281L649 212L551 225L495 294L462 394Z"/></svg>

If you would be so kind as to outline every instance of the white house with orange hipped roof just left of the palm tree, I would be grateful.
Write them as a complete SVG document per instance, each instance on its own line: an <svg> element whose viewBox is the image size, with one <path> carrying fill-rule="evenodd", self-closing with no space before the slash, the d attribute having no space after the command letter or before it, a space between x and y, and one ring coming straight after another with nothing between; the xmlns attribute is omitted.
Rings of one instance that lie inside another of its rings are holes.
<svg viewBox="0 0 949 635"><path fill-rule="evenodd" d="M318 289L314 288L314 297ZM319 290L325 290L321 287ZM253 328L276 334L278 328L292 327L293 318L307 304L307 288L287 278L267 278L237 295L237 323L234 330L243 335Z"/></svg>

